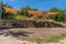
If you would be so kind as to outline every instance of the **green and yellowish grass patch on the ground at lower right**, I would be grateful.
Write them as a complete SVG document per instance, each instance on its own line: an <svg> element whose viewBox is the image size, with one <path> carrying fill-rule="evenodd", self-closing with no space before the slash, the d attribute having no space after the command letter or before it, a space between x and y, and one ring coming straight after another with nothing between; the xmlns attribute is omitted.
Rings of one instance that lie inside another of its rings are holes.
<svg viewBox="0 0 66 44"><path fill-rule="evenodd" d="M62 33L62 34L58 34L58 35L45 36L43 38L35 37L34 41L36 43L42 43L42 42L46 42L46 43L54 42L54 43L57 43L59 40L64 40L65 37L66 37L66 33Z"/></svg>

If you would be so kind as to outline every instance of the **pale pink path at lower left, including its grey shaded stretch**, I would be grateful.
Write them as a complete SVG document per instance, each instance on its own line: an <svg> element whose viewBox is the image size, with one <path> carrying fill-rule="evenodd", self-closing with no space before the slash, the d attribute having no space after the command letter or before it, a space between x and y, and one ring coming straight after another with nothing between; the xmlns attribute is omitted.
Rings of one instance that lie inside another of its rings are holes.
<svg viewBox="0 0 66 44"><path fill-rule="evenodd" d="M13 29L15 30L15 29ZM1 30L0 31L0 44L35 44L35 43L31 43L28 41L20 41L16 38L13 38L12 36L6 36L6 33L9 32L11 30Z"/></svg>

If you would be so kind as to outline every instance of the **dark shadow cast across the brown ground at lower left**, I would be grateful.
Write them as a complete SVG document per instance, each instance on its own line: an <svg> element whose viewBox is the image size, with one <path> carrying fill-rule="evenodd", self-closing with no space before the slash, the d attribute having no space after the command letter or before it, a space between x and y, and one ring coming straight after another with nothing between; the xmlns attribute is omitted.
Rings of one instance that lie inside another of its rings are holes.
<svg viewBox="0 0 66 44"><path fill-rule="evenodd" d="M7 33L7 35L12 35L12 36L15 36L15 37L19 37L19 36L29 36L29 34L32 34L33 32L9 32Z"/></svg>

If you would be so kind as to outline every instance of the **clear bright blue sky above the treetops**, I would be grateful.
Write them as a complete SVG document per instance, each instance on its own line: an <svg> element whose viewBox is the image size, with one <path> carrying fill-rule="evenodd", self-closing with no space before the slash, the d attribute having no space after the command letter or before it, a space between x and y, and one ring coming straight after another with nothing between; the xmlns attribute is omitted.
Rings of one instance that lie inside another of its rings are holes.
<svg viewBox="0 0 66 44"><path fill-rule="evenodd" d="M25 6L36 8L38 10L47 10L52 7L66 9L66 0L2 0L3 3L12 6L14 9L21 9Z"/></svg>

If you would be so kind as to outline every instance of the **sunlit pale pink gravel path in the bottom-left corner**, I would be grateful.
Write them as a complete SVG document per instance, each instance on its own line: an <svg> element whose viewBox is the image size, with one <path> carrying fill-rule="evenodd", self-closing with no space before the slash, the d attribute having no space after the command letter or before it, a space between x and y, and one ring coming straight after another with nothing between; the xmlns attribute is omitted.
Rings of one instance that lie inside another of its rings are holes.
<svg viewBox="0 0 66 44"><path fill-rule="evenodd" d="M35 44L35 43L20 41L11 36L0 35L0 44Z"/></svg>

